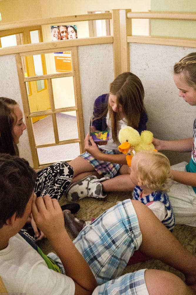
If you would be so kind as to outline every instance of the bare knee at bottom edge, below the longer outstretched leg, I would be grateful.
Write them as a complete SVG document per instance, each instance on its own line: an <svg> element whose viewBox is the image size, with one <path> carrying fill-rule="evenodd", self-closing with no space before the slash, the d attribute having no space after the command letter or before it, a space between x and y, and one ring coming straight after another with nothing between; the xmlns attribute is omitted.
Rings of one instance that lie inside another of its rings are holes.
<svg viewBox="0 0 196 295"><path fill-rule="evenodd" d="M148 269L144 276L150 295L194 295L193 290L173 273Z"/></svg>

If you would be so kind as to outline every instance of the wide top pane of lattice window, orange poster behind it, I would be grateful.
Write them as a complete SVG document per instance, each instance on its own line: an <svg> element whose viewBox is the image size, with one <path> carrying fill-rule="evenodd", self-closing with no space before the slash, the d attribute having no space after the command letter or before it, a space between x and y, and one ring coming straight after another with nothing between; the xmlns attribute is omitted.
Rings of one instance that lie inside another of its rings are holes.
<svg viewBox="0 0 196 295"><path fill-rule="evenodd" d="M42 59L41 55L29 55L23 57L23 70L26 72L26 68L29 69L28 77L47 74L56 74L56 73L69 73L72 72L71 64L71 51L63 51L56 53L47 53L43 54L43 60L46 61L45 72L42 70ZM35 74L31 70L31 63L34 64Z"/></svg>

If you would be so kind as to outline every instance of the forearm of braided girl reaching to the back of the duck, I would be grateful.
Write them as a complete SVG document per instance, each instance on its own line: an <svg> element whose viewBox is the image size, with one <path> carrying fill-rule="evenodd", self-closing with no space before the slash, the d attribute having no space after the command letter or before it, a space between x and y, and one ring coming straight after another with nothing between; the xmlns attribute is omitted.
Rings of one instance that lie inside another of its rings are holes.
<svg viewBox="0 0 196 295"><path fill-rule="evenodd" d="M153 145L156 150L172 150L174 152L191 152L193 138L186 138L181 140L160 140L153 138Z"/></svg>

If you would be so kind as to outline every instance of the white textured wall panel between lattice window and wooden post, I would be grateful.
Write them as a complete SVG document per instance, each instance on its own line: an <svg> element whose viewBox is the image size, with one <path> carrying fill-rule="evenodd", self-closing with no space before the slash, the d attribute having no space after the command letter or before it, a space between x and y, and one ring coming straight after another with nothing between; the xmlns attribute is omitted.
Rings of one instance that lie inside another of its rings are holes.
<svg viewBox="0 0 196 295"><path fill-rule="evenodd" d="M82 110L85 135L95 99L109 92L114 80L112 44L84 45L78 47Z"/></svg>

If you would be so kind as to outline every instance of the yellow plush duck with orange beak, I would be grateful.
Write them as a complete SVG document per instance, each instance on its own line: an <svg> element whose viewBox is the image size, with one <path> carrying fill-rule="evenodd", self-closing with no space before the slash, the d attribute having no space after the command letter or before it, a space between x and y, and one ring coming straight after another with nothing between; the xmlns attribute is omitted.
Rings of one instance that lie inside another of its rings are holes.
<svg viewBox="0 0 196 295"><path fill-rule="evenodd" d="M130 153L130 155L126 156L127 165L129 167L133 155L139 150L157 151L152 143L153 133L147 130L142 131L140 135L134 128L125 126L120 129L118 139L121 143L121 145L118 146L119 151L123 154Z"/></svg>

